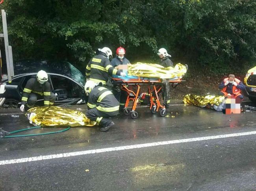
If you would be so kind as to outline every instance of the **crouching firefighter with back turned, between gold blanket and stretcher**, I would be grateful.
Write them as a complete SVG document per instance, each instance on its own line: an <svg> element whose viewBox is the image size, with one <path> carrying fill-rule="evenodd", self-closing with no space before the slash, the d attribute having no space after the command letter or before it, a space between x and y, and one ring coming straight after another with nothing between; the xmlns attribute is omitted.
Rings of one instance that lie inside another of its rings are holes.
<svg viewBox="0 0 256 191"><path fill-rule="evenodd" d="M119 102L109 89L92 80L86 82L84 89L85 94L89 96L86 117L91 121L98 122L101 126L100 131L108 131L115 125L109 117L118 114Z"/></svg>

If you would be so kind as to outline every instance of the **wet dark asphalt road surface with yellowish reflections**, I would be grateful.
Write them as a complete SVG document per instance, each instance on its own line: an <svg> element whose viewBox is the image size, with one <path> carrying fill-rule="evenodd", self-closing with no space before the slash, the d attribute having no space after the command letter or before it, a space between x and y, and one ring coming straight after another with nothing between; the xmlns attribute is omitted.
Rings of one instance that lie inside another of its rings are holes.
<svg viewBox="0 0 256 191"><path fill-rule="evenodd" d="M224 115L181 103L169 109L169 117L152 115L148 108L137 111L136 120L114 118L107 133L74 127L55 135L0 139L0 160L256 131L256 111ZM13 131L30 124L14 109L0 111L0 126ZM0 191L255 191L255 139L236 136L0 165Z"/></svg>

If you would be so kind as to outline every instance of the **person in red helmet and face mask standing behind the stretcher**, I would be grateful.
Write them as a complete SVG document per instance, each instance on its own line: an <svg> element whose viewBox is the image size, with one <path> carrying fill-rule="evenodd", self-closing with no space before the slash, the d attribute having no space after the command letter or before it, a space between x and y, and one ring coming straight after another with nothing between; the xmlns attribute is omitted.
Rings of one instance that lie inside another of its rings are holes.
<svg viewBox="0 0 256 191"><path fill-rule="evenodd" d="M119 69L121 72L126 73L126 71L123 71L119 68L119 65L127 65L130 64L130 61L124 57L125 55L125 49L123 47L118 47L116 50L116 57L113 58L110 62L110 64L115 67L115 69ZM117 86L113 87L113 94L115 95L115 98L120 102L119 110L122 110L124 108L126 99L127 99L127 93L124 90L117 91Z"/></svg>

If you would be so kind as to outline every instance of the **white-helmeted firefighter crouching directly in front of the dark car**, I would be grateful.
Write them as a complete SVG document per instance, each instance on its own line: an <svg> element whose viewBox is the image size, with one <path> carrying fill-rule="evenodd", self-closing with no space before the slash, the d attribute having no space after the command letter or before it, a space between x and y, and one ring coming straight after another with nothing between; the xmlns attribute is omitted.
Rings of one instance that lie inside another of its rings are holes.
<svg viewBox="0 0 256 191"><path fill-rule="evenodd" d="M56 96L51 92L48 75L43 70L37 73L36 78L28 80L23 90L20 110L23 112L33 107L37 99L44 99L45 106L53 105L56 100Z"/></svg>

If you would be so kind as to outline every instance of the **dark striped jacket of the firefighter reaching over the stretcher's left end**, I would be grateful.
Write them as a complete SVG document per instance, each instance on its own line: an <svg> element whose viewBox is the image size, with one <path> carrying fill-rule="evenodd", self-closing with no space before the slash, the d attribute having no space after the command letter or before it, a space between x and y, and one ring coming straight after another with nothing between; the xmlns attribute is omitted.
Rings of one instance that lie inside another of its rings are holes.
<svg viewBox="0 0 256 191"><path fill-rule="evenodd" d="M90 62L86 66L86 78L96 83L102 83L106 85L108 76L119 75L121 71L115 69L109 62L106 54L99 53L98 55L91 58Z"/></svg>

